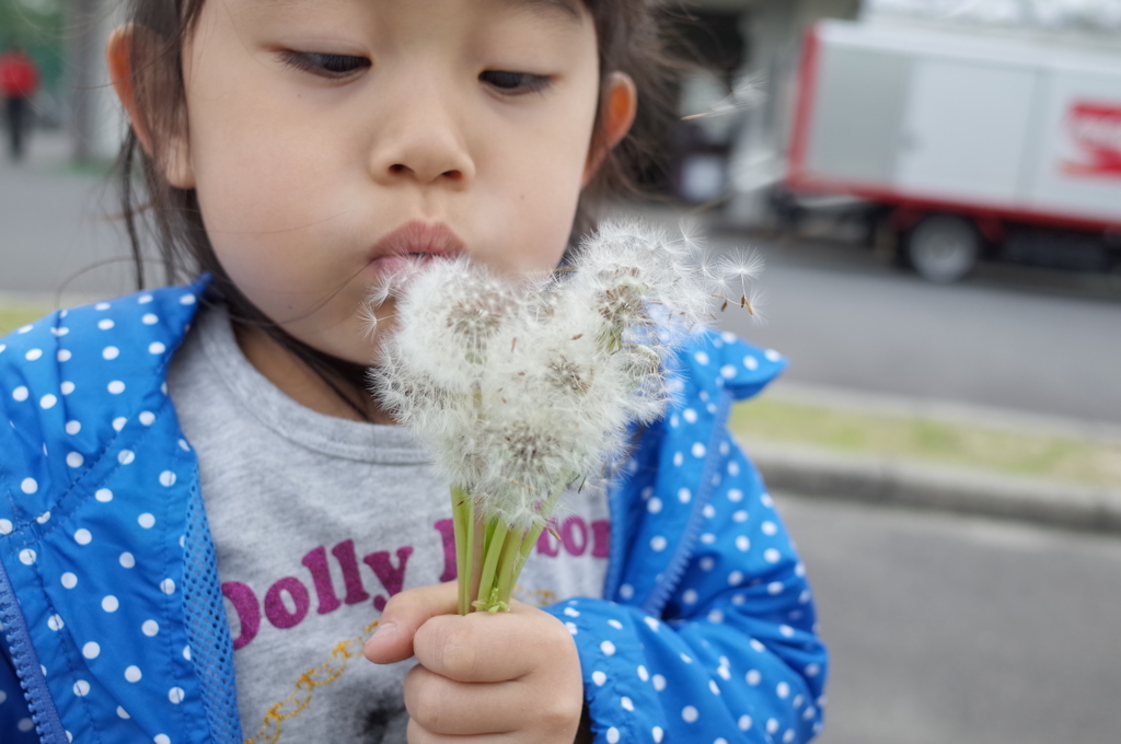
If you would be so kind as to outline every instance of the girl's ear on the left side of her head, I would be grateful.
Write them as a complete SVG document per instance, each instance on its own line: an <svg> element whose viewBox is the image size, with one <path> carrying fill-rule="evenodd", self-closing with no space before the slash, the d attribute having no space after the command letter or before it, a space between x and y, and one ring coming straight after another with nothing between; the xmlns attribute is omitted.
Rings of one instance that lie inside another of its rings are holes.
<svg viewBox="0 0 1121 744"><path fill-rule="evenodd" d="M109 77L117 91L117 97L129 114L132 123L132 131L140 140L140 147L160 164L164 177L168 184L176 188L194 188L195 175L191 167L189 150L186 137L175 136L169 142L163 145L164 151L155 150L155 140L149 130L151 118L145 117L140 111L136 93L136 75L133 74L132 52L136 48L136 34L150 34L146 29L138 28L132 24L119 26L113 29L105 45L105 59L109 63Z"/></svg>

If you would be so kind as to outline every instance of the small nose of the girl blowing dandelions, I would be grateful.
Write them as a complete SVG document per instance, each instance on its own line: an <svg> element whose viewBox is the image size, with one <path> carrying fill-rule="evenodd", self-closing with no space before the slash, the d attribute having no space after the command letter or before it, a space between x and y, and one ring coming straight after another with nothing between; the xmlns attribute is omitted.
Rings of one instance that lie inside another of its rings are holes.
<svg viewBox="0 0 1121 744"><path fill-rule="evenodd" d="M475 165L456 125L447 96L414 91L401 105L386 102L386 125L371 154L371 175L380 184L415 182L465 188Z"/></svg>

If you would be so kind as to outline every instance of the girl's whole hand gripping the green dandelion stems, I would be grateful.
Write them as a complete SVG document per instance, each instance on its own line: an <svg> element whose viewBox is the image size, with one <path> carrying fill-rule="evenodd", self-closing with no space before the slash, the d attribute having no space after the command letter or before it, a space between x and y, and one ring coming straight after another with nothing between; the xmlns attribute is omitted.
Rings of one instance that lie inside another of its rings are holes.
<svg viewBox="0 0 1121 744"><path fill-rule="evenodd" d="M402 592L365 644L374 663L419 661L405 678L409 744L572 744L584 687L567 629L517 601L508 613L456 615L457 598L455 582Z"/></svg>

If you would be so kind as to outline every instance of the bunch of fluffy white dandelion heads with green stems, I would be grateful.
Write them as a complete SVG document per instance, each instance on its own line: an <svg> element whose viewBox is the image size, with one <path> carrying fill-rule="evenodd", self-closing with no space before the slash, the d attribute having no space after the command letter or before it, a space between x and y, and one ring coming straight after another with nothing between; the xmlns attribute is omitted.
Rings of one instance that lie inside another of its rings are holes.
<svg viewBox="0 0 1121 744"><path fill-rule="evenodd" d="M663 413L667 360L719 304L757 314L760 269L715 260L692 234L612 222L547 276L442 259L378 289L371 306L396 298L397 329L371 382L454 484L461 613L509 607L564 489Z"/></svg>

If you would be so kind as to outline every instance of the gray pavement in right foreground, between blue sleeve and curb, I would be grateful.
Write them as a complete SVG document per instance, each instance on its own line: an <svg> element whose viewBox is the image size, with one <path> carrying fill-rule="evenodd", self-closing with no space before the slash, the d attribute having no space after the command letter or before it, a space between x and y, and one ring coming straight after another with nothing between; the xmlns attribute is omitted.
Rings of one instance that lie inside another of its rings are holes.
<svg viewBox="0 0 1121 744"><path fill-rule="evenodd" d="M1121 741L1121 539L776 500L832 654L819 744Z"/></svg>

